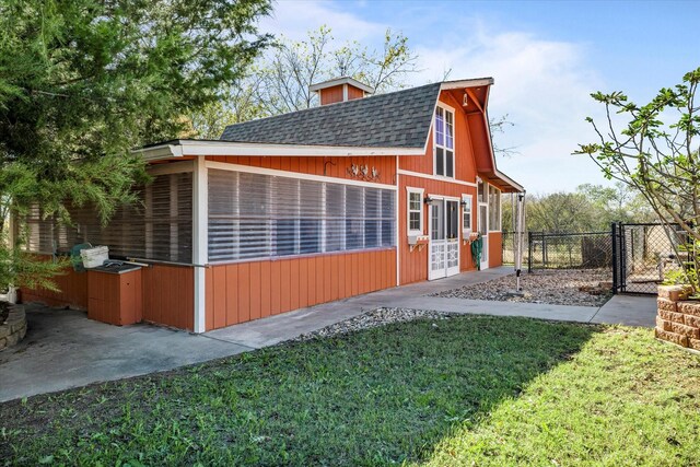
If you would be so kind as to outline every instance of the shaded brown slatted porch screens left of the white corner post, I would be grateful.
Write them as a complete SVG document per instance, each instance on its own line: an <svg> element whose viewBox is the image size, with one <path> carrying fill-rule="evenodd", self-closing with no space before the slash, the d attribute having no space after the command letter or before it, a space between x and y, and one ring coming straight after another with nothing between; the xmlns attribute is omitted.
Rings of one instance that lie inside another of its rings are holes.
<svg viewBox="0 0 700 467"><path fill-rule="evenodd" d="M92 206L69 206L71 225L44 219L38 207L25 218L26 249L68 253L81 243L106 245L113 257L191 262L191 173L160 175L138 189L135 205L119 207L102 225Z"/></svg>

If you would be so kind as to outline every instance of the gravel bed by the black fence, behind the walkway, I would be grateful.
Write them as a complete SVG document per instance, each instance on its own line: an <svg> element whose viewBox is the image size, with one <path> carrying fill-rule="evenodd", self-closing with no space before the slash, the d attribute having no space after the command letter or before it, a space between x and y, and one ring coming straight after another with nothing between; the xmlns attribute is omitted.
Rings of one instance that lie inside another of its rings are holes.
<svg viewBox="0 0 700 467"><path fill-rule="evenodd" d="M515 277L505 276L430 296L548 303L551 305L602 306L610 297L612 273L606 269L545 270L521 276L523 294L514 295Z"/></svg>

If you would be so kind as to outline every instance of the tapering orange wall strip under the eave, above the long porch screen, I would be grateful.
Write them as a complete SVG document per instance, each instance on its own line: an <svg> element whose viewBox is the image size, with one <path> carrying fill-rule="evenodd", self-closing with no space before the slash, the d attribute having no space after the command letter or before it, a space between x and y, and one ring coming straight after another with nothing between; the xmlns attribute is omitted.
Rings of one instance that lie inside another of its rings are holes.
<svg viewBox="0 0 700 467"><path fill-rule="evenodd" d="M325 175L342 179L360 179L348 170L352 164L375 167L380 173L376 183L394 185L396 183L395 156L366 157L267 157L267 156L228 156L208 155L207 161L225 162L230 164L248 165L253 167L272 168L300 174Z"/></svg>

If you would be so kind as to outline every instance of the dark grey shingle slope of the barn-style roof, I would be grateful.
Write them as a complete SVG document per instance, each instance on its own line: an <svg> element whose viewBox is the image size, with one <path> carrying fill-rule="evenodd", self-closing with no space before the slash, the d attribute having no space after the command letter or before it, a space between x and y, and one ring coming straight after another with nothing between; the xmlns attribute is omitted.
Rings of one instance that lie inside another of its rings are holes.
<svg viewBox="0 0 700 467"><path fill-rule="evenodd" d="M441 83L230 125L237 142L423 148Z"/></svg>

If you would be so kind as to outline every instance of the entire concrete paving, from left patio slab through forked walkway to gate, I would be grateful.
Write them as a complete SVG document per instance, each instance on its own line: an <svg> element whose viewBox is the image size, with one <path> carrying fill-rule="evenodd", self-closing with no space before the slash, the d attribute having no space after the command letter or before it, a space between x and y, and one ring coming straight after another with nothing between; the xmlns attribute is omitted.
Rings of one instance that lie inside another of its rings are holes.
<svg viewBox="0 0 700 467"><path fill-rule="evenodd" d="M512 272L511 267L466 272L298 310L203 335L150 325L110 326L88 319L82 312L30 305L26 338L19 346L0 352L0 402L235 355L382 306L654 326L656 302L650 296L616 295L600 308L425 296Z"/></svg>

